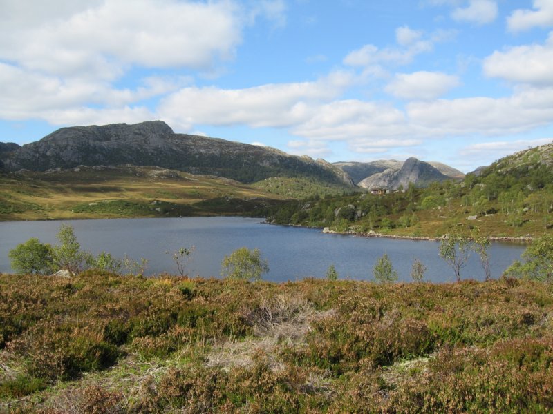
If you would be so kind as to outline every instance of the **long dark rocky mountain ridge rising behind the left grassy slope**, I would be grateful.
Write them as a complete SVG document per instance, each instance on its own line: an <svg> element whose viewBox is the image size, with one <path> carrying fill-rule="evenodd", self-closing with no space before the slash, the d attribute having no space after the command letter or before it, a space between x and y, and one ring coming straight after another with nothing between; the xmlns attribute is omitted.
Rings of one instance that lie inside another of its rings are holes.
<svg viewBox="0 0 553 414"><path fill-rule="evenodd" d="M353 186L344 172L274 148L176 134L162 121L61 128L40 141L0 145L0 167L46 171L84 166L160 166L251 183L268 177L308 177Z"/></svg>

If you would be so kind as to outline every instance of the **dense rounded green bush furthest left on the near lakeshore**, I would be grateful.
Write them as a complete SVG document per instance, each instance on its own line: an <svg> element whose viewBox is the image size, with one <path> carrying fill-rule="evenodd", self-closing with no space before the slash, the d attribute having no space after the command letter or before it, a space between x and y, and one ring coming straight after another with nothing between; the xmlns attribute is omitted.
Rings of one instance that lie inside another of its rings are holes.
<svg viewBox="0 0 553 414"><path fill-rule="evenodd" d="M43 244L36 237L18 244L8 253L12 269L18 273L44 275L50 273L53 266L52 246Z"/></svg>

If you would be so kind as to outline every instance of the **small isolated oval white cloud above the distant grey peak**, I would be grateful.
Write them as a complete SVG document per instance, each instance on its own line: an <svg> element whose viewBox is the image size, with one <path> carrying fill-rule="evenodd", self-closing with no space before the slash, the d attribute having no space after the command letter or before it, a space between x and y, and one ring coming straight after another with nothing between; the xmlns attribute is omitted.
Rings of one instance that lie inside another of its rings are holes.
<svg viewBox="0 0 553 414"><path fill-rule="evenodd" d="M442 72L398 73L384 88L403 99L435 99L459 86L459 78Z"/></svg>

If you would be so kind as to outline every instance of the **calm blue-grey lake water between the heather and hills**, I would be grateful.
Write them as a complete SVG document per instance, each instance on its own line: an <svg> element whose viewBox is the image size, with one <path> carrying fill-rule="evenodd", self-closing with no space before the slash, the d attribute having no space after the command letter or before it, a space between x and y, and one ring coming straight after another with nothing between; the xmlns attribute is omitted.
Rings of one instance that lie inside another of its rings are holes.
<svg viewBox="0 0 553 414"><path fill-rule="evenodd" d="M195 246L189 275L219 277L223 257L246 246L261 250L270 267L263 278L274 282L324 277L330 264L335 265L341 279L373 279L373 266L384 253L390 257L400 280L411 280L415 259L427 266L425 279L432 282L455 279L453 270L438 255L438 242L323 234L317 229L270 226L263 224L262 219L238 217L3 222L0 272L10 272L8 251L30 237L56 244L55 236L62 223L75 228L84 250L149 259L149 275L177 273L171 255L165 252ZM492 244L489 255L493 276L499 277L524 250L524 245ZM462 277L483 279L476 254L471 255Z"/></svg>

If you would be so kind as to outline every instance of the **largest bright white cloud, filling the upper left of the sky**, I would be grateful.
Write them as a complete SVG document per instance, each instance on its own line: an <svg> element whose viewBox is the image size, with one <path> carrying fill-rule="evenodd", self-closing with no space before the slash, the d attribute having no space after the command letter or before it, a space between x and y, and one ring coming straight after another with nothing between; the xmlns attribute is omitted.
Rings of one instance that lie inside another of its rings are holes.
<svg viewBox="0 0 553 414"><path fill-rule="evenodd" d="M16 20L32 13L16 11ZM0 57L56 75L111 74L125 64L202 69L234 57L241 42L229 2L106 0L73 11L37 26L0 29Z"/></svg>

